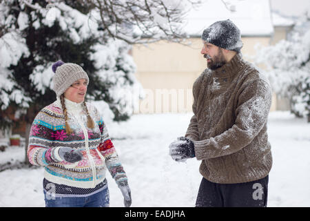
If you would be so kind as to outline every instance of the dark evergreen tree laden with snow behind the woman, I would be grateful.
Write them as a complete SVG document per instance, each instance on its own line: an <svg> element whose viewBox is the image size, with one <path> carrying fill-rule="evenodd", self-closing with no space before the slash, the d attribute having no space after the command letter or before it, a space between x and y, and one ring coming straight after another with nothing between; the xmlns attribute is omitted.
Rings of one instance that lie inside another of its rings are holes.
<svg viewBox="0 0 310 221"><path fill-rule="evenodd" d="M75 6L74 2L68 1ZM0 38L2 129L12 124L6 115L8 107L10 111L19 111L19 120L27 124L25 137L28 141L35 115L56 99L51 90L54 75L51 67L59 59L79 64L87 72L90 77L88 101L106 102L116 121L130 117L132 113L123 111L124 106L118 105L123 97L111 93L120 85L110 80L112 75L118 74L118 82L127 86L127 93L132 93L132 87L138 85L134 62L127 58L130 46L120 40L103 41L99 26L82 13L89 8L79 6L79 11L59 3L59 8L53 9L56 17L49 20L43 1L32 1L31 7L18 0L2 1L0 6L3 18ZM101 49L105 51L97 51ZM98 53L101 57L96 56Z"/></svg>

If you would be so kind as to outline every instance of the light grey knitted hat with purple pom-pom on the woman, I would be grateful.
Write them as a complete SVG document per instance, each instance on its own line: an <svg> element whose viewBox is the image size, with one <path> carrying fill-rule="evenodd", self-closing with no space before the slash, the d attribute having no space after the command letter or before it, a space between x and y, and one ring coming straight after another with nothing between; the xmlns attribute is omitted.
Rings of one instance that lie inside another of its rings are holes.
<svg viewBox="0 0 310 221"><path fill-rule="evenodd" d="M89 82L87 73L77 64L56 61L52 66L52 70L55 73L53 77L53 90L57 97L60 97L78 79L84 78Z"/></svg>

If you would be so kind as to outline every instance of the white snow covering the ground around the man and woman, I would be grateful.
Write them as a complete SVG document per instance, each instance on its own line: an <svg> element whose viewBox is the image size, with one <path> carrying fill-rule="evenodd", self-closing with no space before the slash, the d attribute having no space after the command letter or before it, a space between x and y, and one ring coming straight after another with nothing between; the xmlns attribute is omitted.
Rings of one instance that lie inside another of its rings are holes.
<svg viewBox="0 0 310 221"><path fill-rule="evenodd" d="M107 125L129 177L132 206L194 206L202 178L200 161L177 163L168 155L169 144L184 135L191 116L134 115L128 122ZM310 124L288 112L272 112L269 141L273 168L268 206L310 206ZM0 163L5 155L10 156L8 161L12 155L20 158L23 148L6 152L0 152ZM2 171L0 180L0 206L45 206L43 168ZM121 191L109 173L107 180L110 206L123 206Z"/></svg>

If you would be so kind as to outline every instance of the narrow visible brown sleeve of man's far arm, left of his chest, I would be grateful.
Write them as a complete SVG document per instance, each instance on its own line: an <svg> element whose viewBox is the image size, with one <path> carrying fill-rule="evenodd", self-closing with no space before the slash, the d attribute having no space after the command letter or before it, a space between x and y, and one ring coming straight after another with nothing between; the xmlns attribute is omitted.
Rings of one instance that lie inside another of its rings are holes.
<svg viewBox="0 0 310 221"><path fill-rule="evenodd" d="M200 84L202 81L203 77L200 75L198 79L194 82L193 85L193 96L194 96L194 102L193 102L193 113L194 115L192 116L189 126L187 128L187 131L185 133L185 137L189 138L190 140L199 140L199 132L198 132L198 122L197 122L197 99L198 99L198 93L199 93L199 88Z"/></svg>

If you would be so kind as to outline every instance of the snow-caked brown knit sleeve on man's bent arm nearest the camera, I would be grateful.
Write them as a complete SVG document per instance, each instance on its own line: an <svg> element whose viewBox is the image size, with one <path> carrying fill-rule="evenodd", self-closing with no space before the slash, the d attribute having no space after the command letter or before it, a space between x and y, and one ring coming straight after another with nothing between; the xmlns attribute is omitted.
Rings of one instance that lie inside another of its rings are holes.
<svg viewBox="0 0 310 221"><path fill-rule="evenodd" d="M207 140L195 141L197 160L230 155L254 140L267 122L271 107L271 88L257 79L247 84L238 97L235 124Z"/></svg>

